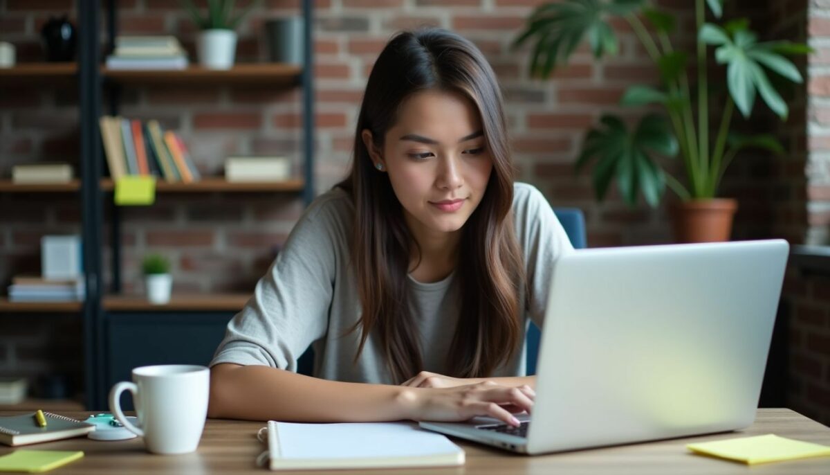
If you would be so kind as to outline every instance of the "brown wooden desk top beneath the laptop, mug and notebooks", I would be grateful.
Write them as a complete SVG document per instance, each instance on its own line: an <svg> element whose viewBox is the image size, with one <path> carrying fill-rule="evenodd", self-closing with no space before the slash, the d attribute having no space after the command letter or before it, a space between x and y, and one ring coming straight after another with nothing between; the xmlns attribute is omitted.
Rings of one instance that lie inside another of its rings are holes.
<svg viewBox="0 0 830 475"><path fill-rule="evenodd" d="M0 413L13 415L15 413ZM66 413L78 419L86 419L94 413ZM96 442L88 438L72 438L51 443L39 443L27 448L53 450L83 450L85 457L63 468L58 475L95 475L97 473L268 473L254 466L254 458L263 445L256 440L256 431L264 424L258 422L209 419L196 453L186 455L153 455L144 452L140 438L120 442ZM526 457L490 449L473 443L456 440L466 450L466 465L459 468L433 468L428 473L462 474L481 473L501 475L505 473L527 474L587 474L613 473L632 475L684 475L686 473L751 473L770 474L821 474L830 473L830 458L808 458L789 462L770 463L749 468L740 463L693 455L686 450L686 443L720 438L776 433L814 443L830 444L830 428L805 418L789 409L759 409L755 424L740 433L720 433L695 438L682 438L654 443L639 443L621 447L583 450ZM12 448L0 446L0 455ZM297 472L310 474L314 472ZM329 472L345 475L351 472ZM427 469L371 470L365 473L412 474L427 473Z"/></svg>

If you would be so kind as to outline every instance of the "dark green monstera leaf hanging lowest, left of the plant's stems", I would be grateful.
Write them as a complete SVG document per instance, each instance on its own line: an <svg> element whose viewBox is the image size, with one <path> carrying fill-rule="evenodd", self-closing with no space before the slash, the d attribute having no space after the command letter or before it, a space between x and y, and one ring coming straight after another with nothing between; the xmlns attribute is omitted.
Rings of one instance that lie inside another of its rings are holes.
<svg viewBox="0 0 830 475"><path fill-rule="evenodd" d="M666 118L646 115L633 132L615 115L603 115L599 123L599 127L589 130L585 136L577 170L597 159L593 188L598 200L605 198L608 185L616 176L617 186L628 204L637 203L637 191L642 191L646 202L656 207L666 190L666 174L652 159L652 154L673 157L678 148Z"/></svg>

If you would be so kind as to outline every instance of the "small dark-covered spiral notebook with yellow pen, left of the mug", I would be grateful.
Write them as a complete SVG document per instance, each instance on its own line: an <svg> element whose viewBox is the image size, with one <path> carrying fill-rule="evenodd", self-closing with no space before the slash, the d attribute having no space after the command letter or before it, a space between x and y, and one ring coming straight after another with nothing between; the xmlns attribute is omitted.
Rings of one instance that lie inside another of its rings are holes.
<svg viewBox="0 0 830 475"><path fill-rule="evenodd" d="M46 427L40 427L35 420L35 413L12 417L0 417L0 443L27 445L29 443L48 442L85 435L95 429L95 425L86 424L66 416L43 413Z"/></svg>

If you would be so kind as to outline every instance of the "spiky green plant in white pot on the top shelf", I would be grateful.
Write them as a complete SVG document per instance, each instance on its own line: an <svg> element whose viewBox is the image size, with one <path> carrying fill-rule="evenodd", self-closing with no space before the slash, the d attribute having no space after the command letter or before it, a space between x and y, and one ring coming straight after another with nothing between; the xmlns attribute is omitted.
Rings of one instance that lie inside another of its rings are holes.
<svg viewBox="0 0 830 475"><path fill-rule="evenodd" d="M239 22L259 1L254 1L233 16L233 0L207 0L207 15L199 12L193 0L183 0L200 32L196 37L199 64L207 69L231 69L237 54Z"/></svg>

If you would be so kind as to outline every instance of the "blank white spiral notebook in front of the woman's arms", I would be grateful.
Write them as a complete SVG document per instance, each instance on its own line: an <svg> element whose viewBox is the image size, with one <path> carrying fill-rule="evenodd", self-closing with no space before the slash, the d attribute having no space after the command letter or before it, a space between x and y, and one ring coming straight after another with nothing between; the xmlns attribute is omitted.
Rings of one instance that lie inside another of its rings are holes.
<svg viewBox="0 0 830 475"><path fill-rule="evenodd" d="M292 424L268 421L271 470L454 467L464 450L409 423ZM264 462L264 461L263 461Z"/></svg>

